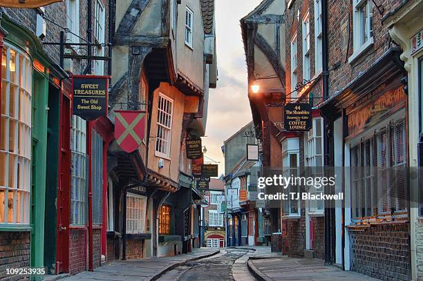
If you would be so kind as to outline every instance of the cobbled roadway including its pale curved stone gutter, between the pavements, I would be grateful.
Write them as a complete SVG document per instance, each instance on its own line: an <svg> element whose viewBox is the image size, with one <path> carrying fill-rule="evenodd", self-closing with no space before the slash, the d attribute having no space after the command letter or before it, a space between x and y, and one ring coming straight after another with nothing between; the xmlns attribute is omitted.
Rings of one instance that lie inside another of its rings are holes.
<svg viewBox="0 0 423 281"><path fill-rule="evenodd" d="M168 271L160 281L253 281L256 280L247 269L248 259L254 255L253 250L227 248L209 258L185 262Z"/></svg>

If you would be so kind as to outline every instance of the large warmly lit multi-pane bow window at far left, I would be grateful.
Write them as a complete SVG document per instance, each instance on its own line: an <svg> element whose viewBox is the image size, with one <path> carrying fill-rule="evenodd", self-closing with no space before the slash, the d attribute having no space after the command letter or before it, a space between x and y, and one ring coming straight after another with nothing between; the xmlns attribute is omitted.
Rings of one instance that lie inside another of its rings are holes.
<svg viewBox="0 0 423 281"><path fill-rule="evenodd" d="M32 64L7 43L1 57L0 225L29 224Z"/></svg>

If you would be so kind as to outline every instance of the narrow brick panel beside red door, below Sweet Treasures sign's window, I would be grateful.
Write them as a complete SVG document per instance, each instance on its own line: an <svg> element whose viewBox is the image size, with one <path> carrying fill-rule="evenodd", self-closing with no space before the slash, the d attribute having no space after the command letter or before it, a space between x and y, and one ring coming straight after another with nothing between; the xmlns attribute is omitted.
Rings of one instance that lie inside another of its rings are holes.
<svg viewBox="0 0 423 281"><path fill-rule="evenodd" d="M69 234L69 273L86 270L86 230L71 229Z"/></svg>

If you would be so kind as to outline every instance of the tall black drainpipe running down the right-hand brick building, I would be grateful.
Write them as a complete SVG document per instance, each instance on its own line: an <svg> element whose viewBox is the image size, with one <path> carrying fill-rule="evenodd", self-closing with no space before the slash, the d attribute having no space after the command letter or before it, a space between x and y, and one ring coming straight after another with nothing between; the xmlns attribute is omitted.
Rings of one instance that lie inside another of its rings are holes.
<svg viewBox="0 0 423 281"><path fill-rule="evenodd" d="M323 68L323 99L326 100L329 97L329 73L328 73L328 0L321 1L321 11L322 11L322 68ZM326 123L326 122L325 122ZM324 126L324 144L326 151L325 154L328 153L328 134L327 128ZM329 164L327 157L325 157L324 164ZM331 251L331 243L332 243L332 214L330 206L328 206L328 202L325 203L325 264L332 264L332 251Z"/></svg>

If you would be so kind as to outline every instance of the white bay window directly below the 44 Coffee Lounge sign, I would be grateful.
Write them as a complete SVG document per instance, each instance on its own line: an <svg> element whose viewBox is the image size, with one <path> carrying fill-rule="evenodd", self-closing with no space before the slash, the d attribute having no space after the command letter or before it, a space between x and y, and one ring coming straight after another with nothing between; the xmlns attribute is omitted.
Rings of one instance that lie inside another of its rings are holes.
<svg viewBox="0 0 423 281"><path fill-rule="evenodd" d="M282 166L284 177L297 177L299 166L299 139L285 139L282 143ZM299 186L290 185L286 192L299 193ZM300 215L300 200L289 198L283 202L285 215Z"/></svg>

